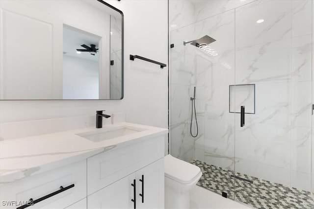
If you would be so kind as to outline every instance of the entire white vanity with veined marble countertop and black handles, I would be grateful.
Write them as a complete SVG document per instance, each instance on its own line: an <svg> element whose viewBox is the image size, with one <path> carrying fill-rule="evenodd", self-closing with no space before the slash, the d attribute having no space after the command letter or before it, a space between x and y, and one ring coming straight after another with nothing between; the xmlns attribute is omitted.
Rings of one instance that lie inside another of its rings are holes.
<svg viewBox="0 0 314 209"><path fill-rule="evenodd" d="M142 131L97 142L77 135L95 132L92 128L21 139L22 144L38 147L14 160L10 150L20 139L2 142L1 150L10 152L0 156L0 208L28 208L20 206L32 198L35 204L29 209L163 209L167 130L112 126ZM111 129L100 133L106 130ZM12 170L17 170L14 175L8 172Z"/></svg>

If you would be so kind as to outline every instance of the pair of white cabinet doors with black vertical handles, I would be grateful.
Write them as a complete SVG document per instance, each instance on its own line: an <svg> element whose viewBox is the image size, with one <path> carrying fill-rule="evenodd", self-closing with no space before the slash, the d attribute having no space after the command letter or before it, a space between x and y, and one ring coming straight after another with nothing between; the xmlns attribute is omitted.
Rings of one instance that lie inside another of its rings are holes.
<svg viewBox="0 0 314 209"><path fill-rule="evenodd" d="M87 202L88 209L164 208L163 159L89 195Z"/></svg>

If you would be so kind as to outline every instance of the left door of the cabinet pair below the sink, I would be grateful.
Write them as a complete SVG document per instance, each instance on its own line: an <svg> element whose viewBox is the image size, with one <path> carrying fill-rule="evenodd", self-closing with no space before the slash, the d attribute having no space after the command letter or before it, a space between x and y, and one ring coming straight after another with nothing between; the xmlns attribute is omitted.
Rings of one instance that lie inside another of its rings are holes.
<svg viewBox="0 0 314 209"><path fill-rule="evenodd" d="M135 173L106 186L87 197L88 209L131 209L134 208L133 181ZM137 186L137 184L136 184Z"/></svg>

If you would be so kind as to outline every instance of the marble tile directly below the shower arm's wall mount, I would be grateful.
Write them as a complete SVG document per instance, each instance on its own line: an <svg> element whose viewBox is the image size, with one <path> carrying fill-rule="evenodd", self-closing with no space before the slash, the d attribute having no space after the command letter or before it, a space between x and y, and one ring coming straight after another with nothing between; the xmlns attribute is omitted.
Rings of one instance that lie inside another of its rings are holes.
<svg viewBox="0 0 314 209"><path fill-rule="evenodd" d="M171 85L195 85L194 46L178 45L171 49Z"/></svg>

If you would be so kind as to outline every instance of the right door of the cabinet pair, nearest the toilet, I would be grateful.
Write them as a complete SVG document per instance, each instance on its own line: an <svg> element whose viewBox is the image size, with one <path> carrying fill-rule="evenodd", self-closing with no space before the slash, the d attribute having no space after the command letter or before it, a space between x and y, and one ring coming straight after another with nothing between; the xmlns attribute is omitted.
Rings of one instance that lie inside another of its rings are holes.
<svg viewBox="0 0 314 209"><path fill-rule="evenodd" d="M164 208L164 160L136 171L136 208Z"/></svg>

